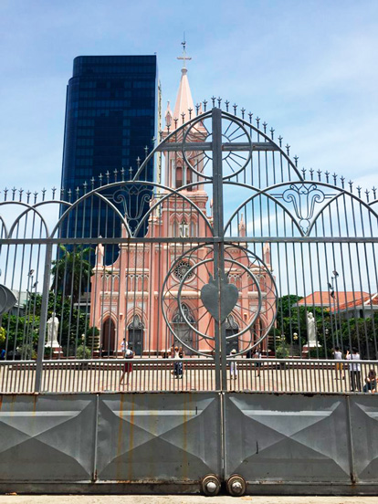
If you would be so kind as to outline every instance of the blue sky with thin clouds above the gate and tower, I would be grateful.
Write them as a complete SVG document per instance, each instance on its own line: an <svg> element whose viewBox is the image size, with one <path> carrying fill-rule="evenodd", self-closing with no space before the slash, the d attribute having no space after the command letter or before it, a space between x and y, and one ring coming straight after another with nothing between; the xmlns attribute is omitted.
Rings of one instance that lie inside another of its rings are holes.
<svg viewBox="0 0 378 504"><path fill-rule="evenodd" d="M194 101L268 122L299 165L378 184L378 2L1 0L1 188L59 186L79 55L158 55L174 101L185 31Z"/></svg>

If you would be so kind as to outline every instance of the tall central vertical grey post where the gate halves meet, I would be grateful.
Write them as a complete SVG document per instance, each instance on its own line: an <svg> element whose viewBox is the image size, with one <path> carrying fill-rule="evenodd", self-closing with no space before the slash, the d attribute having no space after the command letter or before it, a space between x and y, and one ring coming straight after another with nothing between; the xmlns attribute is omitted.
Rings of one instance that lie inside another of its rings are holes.
<svg viewBox="0 0 378 504"><path fill-rule="evenodd" d="M221 314L221 278L225 271L223 222L222 110L212 110L213 132L213 226L214 273L218 289L218 320L215 323L215 386L226 390L226 325Z"/></svg>

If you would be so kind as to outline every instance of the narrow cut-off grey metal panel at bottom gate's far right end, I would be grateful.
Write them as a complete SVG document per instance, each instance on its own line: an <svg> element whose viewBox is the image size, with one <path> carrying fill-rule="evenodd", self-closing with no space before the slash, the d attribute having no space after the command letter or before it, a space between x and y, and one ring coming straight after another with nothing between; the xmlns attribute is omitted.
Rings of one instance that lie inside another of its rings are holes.
<svg viewBox="0 0 378 504"><path fill-rule="evenodd" d="M353 468L359 482L378 483L378 400L375 394L349 397Z"/></svg>

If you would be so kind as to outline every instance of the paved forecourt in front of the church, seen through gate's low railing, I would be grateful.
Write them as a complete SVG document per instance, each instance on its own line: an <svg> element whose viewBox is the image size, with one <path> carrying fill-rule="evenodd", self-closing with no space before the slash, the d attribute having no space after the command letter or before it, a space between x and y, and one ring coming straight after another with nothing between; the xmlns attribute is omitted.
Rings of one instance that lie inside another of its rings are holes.
<svg viewBox="0 0 378 504"><path fill-rule="evenodd" d="M343 373L343 379L336 374L332 365L313 364L306 369L297 363L285 368L265 366L260 373L256 365L245 360L237 361L238 373L231 380L228 373L227 387L230 391L257 392L331 392L351 391L349 373ZM90 362L88 368L80 364L70 365L69 369L47 368L43 373L42 391L70 392L150 392L150 391L214 391L214 366L205 362L190 362L184 365L184 376L174 379L172 367L166 363L132 364L132 373L120 384L123 364L110 362L102 365ZM362 364L362 383L371 366ZM35 369L23 368L20 364L0 366L0 393L29 393L34 390Z"/></svg>

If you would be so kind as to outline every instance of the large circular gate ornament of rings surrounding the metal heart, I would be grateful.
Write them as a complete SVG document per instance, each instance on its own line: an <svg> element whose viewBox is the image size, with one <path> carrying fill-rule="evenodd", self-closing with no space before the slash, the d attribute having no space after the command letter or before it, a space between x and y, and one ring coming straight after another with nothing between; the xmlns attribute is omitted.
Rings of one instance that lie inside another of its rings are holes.
<svg viewBox="0 0 378 504"><path fill-rule="evenodd" d="M256 347L274 323L276 284L267 266L237 245L225 247L224 264L225 271L218 278L213 247L194 247L173 262L164 280L164 320L173 337L191 352L208 355L214 350L219 321L228 328L226 341L239 342L243 349L239 353ZM268 321L257 332L254 326L261 317ZM194 336L195 345L188 342L187 335L183 340L175 326L177 320Z"/></svg>

